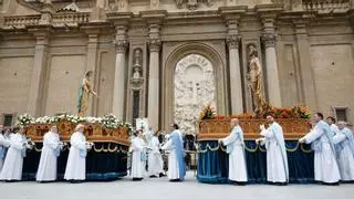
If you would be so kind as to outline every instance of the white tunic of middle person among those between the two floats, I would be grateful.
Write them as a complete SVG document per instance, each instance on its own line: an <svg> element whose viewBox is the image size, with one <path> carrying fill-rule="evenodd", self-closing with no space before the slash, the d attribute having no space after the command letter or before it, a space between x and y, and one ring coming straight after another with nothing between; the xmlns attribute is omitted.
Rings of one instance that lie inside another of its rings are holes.
<svg viewBox="0 0 354 199"><path fill-rule="evenodd" d="M159 153L159 140L157 137L153 137L150 142L150 151L148 154L148 175L158 176L164 171L163 166L163 157Z"/></svg>

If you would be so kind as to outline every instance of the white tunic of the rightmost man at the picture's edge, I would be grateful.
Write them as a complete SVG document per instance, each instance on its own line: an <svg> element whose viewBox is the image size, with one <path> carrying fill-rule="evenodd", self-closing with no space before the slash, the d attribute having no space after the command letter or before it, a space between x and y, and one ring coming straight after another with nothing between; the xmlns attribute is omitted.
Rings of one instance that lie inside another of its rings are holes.
<svg viewBox="0 0 354 199"><path fill-rule="evenodd" d="M333 143L335 145L341 145L336 158L340 168L341 179L343 181L351 181L354 180L354 154L351 149L350 140L343 130L350 129L340 129L340 132L333 137Z"/></svg>

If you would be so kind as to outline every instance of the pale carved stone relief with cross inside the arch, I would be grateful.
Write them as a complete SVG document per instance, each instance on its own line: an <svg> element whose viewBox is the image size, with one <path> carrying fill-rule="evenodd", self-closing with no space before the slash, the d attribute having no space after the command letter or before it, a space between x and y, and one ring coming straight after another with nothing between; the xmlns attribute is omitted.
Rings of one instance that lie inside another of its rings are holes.
<svg viewBox="0 0 354 199"><path fill-rule="evenodd" d="M186 134L196 134L199 112L206 104L216 104L214 66L202 55L189 54L175 70L175 122Z"/></svg>

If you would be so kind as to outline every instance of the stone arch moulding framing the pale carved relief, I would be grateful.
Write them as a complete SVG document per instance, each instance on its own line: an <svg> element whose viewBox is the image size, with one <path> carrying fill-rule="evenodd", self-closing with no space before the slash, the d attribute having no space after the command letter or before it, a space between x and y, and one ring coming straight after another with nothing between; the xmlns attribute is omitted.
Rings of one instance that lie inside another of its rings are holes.
<svg viewBox="0 0 354 199"><path fill-rule="evenodd" d="M221 54L212 46L206 43L192 42L181 43L175 48L163 63L163 80L162 80L162 127L168 129L168 125L174 123L174 77L178 61L189 54L199 54L208 59L214 66L214 76L216 83L216 106L218 114L226 114L227 104L227 81L225 63Z"/></svg>

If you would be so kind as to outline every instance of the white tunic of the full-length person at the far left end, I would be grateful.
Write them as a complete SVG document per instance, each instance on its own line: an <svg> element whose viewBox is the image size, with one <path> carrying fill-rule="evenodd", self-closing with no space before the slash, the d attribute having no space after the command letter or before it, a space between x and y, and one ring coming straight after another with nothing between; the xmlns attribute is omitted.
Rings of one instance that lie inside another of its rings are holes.
<svg viewBox="0 0 354 199"><path fill-rule="evenodd" d="M11 134L10 145L0 174L0 180L21 180L23 166L22 150L25 148L24 137L21 134Z"/></svg>

